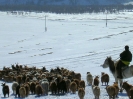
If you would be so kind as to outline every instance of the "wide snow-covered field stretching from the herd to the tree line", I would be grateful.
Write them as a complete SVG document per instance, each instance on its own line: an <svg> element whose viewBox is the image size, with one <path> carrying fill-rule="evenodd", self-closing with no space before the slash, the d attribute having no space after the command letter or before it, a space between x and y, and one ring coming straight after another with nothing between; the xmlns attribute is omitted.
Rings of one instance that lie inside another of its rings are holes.
<svg viewBox="0 0 133 99"><path fill-rule="evenodd" d="M45 32L45 15L47 31ZM108 14L106 27L105 14L54 14L30 13L12 15L0 12L0 69L11 64L27 64L48 70L64 67L82 75L94 76L106 72L110 76L109 85L114 78L109 69L100 67L107 56L116 60L129 45L133 52L133 13ZM133 64L133 62L131 62ZM132 78L125 79L133 84ZM2 83L2 81L0 81ZM13 99L11 85L10 97ZM0 97L3 97L0 86ZM108 99L105 86L101 86L100 99ZM94 99L91 86L85 89L85 99ZM26 99L78 99L78 94L64 96L29 95ZM126 92L119 93L118 99L128 99Z"/></svg>

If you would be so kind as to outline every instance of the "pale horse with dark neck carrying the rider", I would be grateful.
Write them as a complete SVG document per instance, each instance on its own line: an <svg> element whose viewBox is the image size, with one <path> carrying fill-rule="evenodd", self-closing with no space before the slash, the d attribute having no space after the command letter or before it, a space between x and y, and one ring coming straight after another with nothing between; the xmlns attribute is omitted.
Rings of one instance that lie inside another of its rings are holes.
<svg viewBox="0 0 133 99"><path fill-rule="evenodd" d="M123 84L123 79L126 78L130 78L133 77L133 65L131 66L127 66L126 68L122 69L122 76L123 79L119 79L117 78L117 63L118 61L113 61L111 57L107 57L103 63L103 65L101 65L103 68L108 68L111 71L111 73L113 74L114 78L115 78L115 82L119 83L120 86L120 92L123 92L123 88L122 88L122 84Z"/></svg>

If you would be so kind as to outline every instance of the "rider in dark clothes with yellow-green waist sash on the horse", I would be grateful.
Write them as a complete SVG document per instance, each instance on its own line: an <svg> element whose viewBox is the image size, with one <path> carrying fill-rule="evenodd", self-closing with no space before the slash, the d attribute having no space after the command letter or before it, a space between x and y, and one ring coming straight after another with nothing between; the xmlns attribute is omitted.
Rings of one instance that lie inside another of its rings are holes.
<svg viewBox="0 0 133 99"><path fill-rule="evenodd" d="M123 79L122 69L127 68L132 61L132 53L129 51L129 46L125 46L125 50L120 53L120 60L117 64L117 78Z"/></svg>

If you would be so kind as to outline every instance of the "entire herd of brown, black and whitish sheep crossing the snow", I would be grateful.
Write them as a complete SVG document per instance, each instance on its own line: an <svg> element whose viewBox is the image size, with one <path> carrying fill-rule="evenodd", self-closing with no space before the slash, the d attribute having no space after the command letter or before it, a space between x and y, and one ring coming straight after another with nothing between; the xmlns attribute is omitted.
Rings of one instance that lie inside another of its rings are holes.
<svg viewBox="0 0 133 99"><path fill-rule="evenodd" d="M67 93L76 94L78 92L79 99L84 99L85 87L91 86L95 99L100 97L99 83L102 85L105 83L106 92L109 99L115 99L119 93L119 86L117 82L113 85L108 85L109 75L102 72L101 80L99 76L92 76L90 72L87 72L86 81L81 79L81 74L66 68L52 68L47 70L45 67L38 69L36 67L23 66L19 64L13 64L11 68L3 67L0 70L0 80L2 83L2 91L4 97L9 97L9 86L6 82L12 82L12 91L15 97L25 98L28 95L64 95ZM87 84L85 84L87 82ZM129 99L133 99L133 86L124 82L122 85L126 90Z"/></svg>

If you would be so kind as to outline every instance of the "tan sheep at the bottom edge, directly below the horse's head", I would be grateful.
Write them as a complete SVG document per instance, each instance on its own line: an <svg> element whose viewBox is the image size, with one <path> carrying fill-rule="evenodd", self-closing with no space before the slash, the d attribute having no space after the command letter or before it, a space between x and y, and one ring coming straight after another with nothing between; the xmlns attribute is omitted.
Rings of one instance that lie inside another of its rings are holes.
<svg viewBox="0 0 133 99"><path fill-rule="evenodd" d="M109 95L109 99L113 98L115 99L116 97L116 88L114 86L106 86L106 91Z"/></svg>

